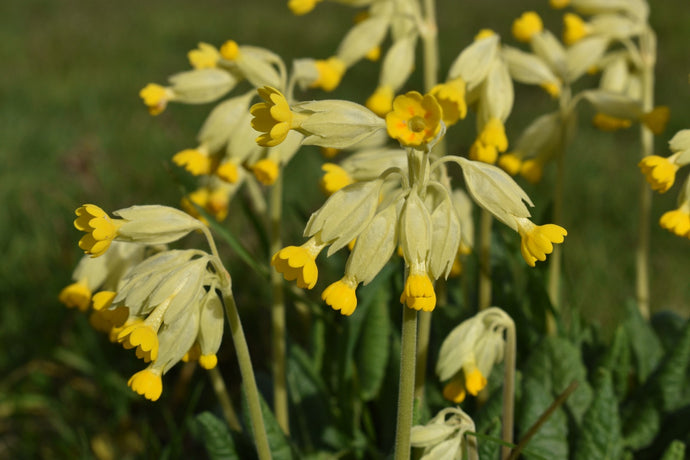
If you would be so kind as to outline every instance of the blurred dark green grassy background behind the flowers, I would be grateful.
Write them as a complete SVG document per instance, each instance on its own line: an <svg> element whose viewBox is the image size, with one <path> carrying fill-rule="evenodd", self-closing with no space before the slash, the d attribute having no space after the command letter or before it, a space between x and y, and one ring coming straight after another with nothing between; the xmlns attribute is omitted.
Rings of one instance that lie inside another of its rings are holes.
<svg viewBox="0 0 690 460"><path fill-rule="evenodd" d="M686 0L652 3L659 47L656 100L671 109L669 126L656 139L663 156L670 137L690 128L687 6ZM528 9L560 34L562 12L549 11L546 0L439 0L442 75L480 28L492 28L515 45L510 25ZM94 332L84 315L58 303L81 257L74 209L82 203L106 210L178 204L181 189L170 158L196 145L209 107L172 104L151 117L138 91L188 68L186 53L198 42L234 39L267 47L287 63L325 58L353 15L350 8L321 4L307 16L293 17L279 0L0 4L0 458L74 458L75 452L83 458L175 457L193 445L179 421L213 404L201 372L192 378L194 369L185 368L167 402L148 403L126 387L127 376L138 370L131 355ZM305 97L363 103L377 78L378 64L362 62L334 93ZM588 78L581 87L596 84ZM421 86L419 78L408 84ZM516 93L509 139L555 107L543 91L516 85ZM582 109L579 134L566 156L564 304L607 328L635 292L639 135L636 127L598 132L589 122L591 108ZM449 139L450 152L467 154L474 140L471 120ZM313 179L313 185L294 190L300 195L286 198L306 215L322 200L316 187L320 161L315 150L307 150L288 170ZM537 222L548 220L552 172L537 186L519 181L536 204ZM690 240L656 223L675 207L677 188L654 195L651 306L686 315ZM241 232L232 208L228 221ZM286 239L298 234L294 230ZM241 273L242 267L231 265L230 271ZM260 300L240 305L250 320L266 308ZM260 374L267 367L261 350L255 366ZM237 382L233 369L228 364L224 372Z"/></svg>

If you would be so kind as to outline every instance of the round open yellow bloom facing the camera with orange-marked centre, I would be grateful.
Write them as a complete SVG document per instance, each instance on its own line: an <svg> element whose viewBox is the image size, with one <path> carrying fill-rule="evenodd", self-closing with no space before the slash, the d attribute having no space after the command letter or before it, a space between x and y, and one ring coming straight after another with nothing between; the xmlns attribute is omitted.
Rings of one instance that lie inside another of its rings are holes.
<svg viewBox="0 0 690 460"><path fill-rule="evenodd" d="M431 141L441 129L441 106L436 99L416 91L393 101L393 111L386 115L388 135L401 144L418 147Z"/></svg>

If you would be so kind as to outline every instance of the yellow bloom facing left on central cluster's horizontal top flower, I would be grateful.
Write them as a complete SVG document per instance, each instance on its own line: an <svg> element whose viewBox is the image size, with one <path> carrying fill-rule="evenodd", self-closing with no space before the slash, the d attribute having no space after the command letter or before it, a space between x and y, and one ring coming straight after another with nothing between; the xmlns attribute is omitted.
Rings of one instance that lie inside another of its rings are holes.
<svg viewBox="0 0 690 460"><path fill-rule="evenodd" d="M254 116L252 128L263 133L256 142L263 147L275 147L285 140L292 128L293 113L285 96L277 89L264 86L258 92L264 102L249 109Z"/></svg>

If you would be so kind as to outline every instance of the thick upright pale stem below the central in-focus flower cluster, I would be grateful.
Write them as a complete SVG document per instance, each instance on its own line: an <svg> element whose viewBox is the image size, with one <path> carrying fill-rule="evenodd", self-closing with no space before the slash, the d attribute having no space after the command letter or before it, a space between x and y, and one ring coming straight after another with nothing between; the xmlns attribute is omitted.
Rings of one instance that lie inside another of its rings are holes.
<svg viewBox="0 0 690 460"><path fill-rule="evenodd" d="M402 309L395 460L408 460L410 458L410 434L414 409L415 351L417 348L417 311L404 305Z"/></svg>

